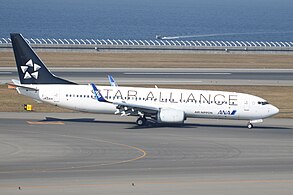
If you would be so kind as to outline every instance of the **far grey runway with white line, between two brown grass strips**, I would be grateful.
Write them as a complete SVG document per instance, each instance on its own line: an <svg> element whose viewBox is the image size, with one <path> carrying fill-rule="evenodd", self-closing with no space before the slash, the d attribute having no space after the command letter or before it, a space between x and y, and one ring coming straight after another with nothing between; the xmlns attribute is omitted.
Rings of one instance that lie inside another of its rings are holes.
<svg viewBox="0 0 293 195"><path fill-rule="evenodd" d="M293 69L195 69L195 68L50 68L77 83L108 83L112 75L121 84L213 84L293 86ZM18 79L15 68L0 68L0 82Z"/></svg>

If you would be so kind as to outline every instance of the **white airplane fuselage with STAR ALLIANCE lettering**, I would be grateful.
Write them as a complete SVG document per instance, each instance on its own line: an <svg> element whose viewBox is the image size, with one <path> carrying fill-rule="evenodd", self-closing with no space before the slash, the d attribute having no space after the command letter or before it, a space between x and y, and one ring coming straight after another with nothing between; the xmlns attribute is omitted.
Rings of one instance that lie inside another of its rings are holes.
<svg viewBox="0 0 293 195"><path fill-rule="evenodd" d="M116 105L96 100L90 85L24 85L38 91L18 88L33 99L83 112L114 114ZM181 110L192 118L263 119L278 113L264 99L236 92L165 88L99 86L106 100L158 108Z"/></svg>

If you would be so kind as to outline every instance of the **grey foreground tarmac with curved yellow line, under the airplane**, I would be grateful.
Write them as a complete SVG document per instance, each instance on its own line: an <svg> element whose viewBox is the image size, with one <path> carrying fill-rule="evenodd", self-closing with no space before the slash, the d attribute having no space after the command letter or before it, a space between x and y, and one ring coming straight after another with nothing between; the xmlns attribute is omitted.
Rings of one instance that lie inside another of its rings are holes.
<svg viewBox="0 0 293 195"><path fill-rule="evenodd" d="M1 194L292 194L293 122L0 113ZM20 187L20 188L19 188Z"/></svg>

